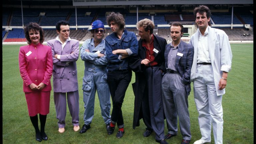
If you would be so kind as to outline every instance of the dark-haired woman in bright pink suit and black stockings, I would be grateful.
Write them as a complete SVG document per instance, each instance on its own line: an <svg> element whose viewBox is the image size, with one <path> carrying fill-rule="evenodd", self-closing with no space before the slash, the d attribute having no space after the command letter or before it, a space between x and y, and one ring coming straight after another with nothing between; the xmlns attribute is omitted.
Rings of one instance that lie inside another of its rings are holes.
<svg viewBox="0 0 256 144"><path fill-rule="evenodd" d="M25 26L24 32L29 45L20 47L20 75L23 80L28 114L36 132L36 140L41 142L42 139L48 139L44 127L50 106L52 51L51 47L42 45L44 32L37 23L30 22ZM38 128L38 113L41 123L40 130Z"/></svg>

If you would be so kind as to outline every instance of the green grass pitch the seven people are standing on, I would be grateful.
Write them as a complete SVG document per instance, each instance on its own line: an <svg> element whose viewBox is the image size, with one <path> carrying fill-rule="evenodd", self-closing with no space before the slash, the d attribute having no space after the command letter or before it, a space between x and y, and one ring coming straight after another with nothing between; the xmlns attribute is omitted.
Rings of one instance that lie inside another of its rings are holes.
<svg viewBox="0 0 256 144"><path fill-rule="evenodd" d="M3 144L32 144L39 143L35 140L35 131L30 122L27 110L25 95L23 93L22 79L19 73L18 53L21 45L2 46L2 116L3 116ZM249 144L253 143L254 136L254 114L253 114L253 44L231 44L233 59L232 70L228 74L226 94L223 96L223 143L224 144ZM78 85L79 85L79 120L80 128L83 125L83 93L82 78L84 64L79 56L77 61ZM52 81L52 79L51 79ZM53 91L51 91L50 113L47 116L45 131L48 135L47 144L156 144L155 133L144 138L145 125L141 120L141 125L135 130L132 129L134 95L131 84L134 83L135 76L127 89L122 106L125 123L125 134L121 139L115 137L117 128L113 135L107 135L104 121L101 117L99 101L95 99L95 114L91 124L91 129L80 134L73 131L71 116L67 108L66 131L63 134L58 132L56 112L53 101ZM189 95L189 112L191 122L191 143L201 138L198 125L198 113L195 107L192 91ZM111 102L112 103L112 102ZM111 106L112 109L112 106ZM40 122L39 122L40 124ZM165 134L167 128L165 127ZM182 140L180 130L178 135L168 139L169 144L179 144ZM212 144L214 138L212 134Z"/></svg>

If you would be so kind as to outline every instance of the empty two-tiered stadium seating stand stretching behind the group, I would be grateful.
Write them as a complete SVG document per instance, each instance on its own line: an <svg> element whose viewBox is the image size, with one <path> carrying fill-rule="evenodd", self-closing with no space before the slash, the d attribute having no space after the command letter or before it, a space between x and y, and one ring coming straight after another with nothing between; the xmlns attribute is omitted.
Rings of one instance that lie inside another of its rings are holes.
<svg viewBox="0 0 256 144"><path fill-rule="evenodd" d="M194 7L194 6L192 6ZM213 8L213 7L211 7ZM227 6L226 9L230 8ZM187 10L192 10L193 8L186 8ZM242 9L242 10L241 10ZM250 24L253 27L253 13L249 11L250 8L240 8L236 7L233 15L233 24ZM29 22L37 22L41 26L55 26L59 20L68 20L70 26L76 25L76 15L77 15L77 25L78 26L88 26L91 25L94 20L101 20L104 25L107 25L106 15L111 11L120 12L124 15L126 25L136 25L137 23L137 13L130 12L127 8L77 8L77 13L75 8L23 8L23 23L24 25ZM231 24L231 10L229 12L212 12L211 18L215 24ZM7 8L2 9L2 25L3 26L22 26L22 14L21 8ZM43 14L40 14L43 13ZM166 11L166 12L155 12L154 14L150 12L139 12L138 20L148 18L153 20L156 28L154 34L157 33L158 36L165 38L166 40L171 40L169 37L170 30L169 27L157 27L157 25L170 24L174 21L179 21L182 24L193 25L195 23L193 13L190 11ZM245 28L221 28L229 36L230 40L253 40L253 31L246 31ZM137 29L134 27L128 27L130 31L138 34ZM55 29L44 28L45 31L45 41L54 39L57 36ZM24 41L23 29L13 28L10 32L6 32L6 29L2 30L2 41ZM106 34L111 34L112 31L107 28ZM71 28L70 37L77 39L79 41L84 41L91 38L90 32L87 28L78 28L74 30ZM184 35L185 37L185 35ZM137 35L139 39L139 35Z"/></svg>

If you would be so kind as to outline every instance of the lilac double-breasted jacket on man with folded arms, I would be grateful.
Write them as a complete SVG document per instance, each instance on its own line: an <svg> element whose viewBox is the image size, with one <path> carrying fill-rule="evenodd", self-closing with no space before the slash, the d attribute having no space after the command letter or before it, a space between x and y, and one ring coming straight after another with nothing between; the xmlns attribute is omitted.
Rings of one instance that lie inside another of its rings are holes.
<svg viewBox="0 0 256 144"><path fill-rule="evenodd" d="M63 50L57 39L49 40L47 45L52 49L53 91L64 93L78 90L76 61L79 56L79 41L75 39L67 41ZM54 58L55 54L61 55L60 60Z"/></svg>

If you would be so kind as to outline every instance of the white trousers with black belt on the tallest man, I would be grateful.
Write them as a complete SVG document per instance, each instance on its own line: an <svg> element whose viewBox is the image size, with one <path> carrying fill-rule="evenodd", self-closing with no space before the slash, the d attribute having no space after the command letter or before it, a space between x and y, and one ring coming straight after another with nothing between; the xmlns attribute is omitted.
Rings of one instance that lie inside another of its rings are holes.
<svg viewBox="0 0 256 144"><path fill-rule="evenodd" d="M211 141L211 124L215 144L222 144L223 110L222 95L217 96L211 65L197 65L194 98L202 140Z"/></svg>

